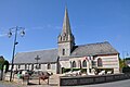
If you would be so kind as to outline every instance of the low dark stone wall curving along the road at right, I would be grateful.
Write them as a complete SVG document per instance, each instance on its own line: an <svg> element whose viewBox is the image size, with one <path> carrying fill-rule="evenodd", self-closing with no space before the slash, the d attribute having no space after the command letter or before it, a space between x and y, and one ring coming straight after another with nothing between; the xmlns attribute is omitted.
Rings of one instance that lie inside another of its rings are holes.
<svg viewBox="0 0 130 87"><path fill-rule="evenodd" d="M110 74L95 76L61 76L60 86L76 86L115 82L130 78L130 74Z"/></svg>

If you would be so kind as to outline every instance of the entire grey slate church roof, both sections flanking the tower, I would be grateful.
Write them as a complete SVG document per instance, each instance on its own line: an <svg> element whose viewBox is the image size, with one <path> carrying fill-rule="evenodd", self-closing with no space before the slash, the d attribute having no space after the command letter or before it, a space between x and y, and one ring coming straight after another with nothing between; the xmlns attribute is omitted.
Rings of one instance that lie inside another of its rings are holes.
<svg viewBox="0 0 130 87"><path fill-rule="evenodd" d="M87 57L87 55L114 54L114 53L119 53L119 52L115 50L109 42L105 41L105 42L76 46L70 57L61 57L60 60L67 61L73 57ZM21 52L15 55L14 63L36 63L37 61L35 60L35 58L37 55L40 57L39 63L56 62L57 49Z"/></svg>

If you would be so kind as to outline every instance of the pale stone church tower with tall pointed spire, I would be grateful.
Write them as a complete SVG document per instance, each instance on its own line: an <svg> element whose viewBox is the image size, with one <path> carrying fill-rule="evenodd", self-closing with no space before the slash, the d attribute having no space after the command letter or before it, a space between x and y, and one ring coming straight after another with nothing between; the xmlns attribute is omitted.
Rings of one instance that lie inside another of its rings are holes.
<svg viewBox="0 0 130 87"><path fill-rule="evenodd" d="M65 8L63 29L62 33L58 35L57 44L60 57L70 55L73 48L75 46L75 37L72 34L67 8Z"/></svg>

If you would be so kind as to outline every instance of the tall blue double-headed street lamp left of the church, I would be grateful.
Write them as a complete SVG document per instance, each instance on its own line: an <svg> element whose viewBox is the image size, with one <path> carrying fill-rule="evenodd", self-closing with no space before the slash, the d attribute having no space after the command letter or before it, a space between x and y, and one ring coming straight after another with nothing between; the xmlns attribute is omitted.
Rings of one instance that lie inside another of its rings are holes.
<svg viewBox="0 0 130 87"><path fill-rule="evenodd" d="M24 27L13 27L13 28L10 28L10 32L8 34L9 38L13 35L14 33L14 42L13 42L13 54L12 54L12 65L11 65L11 76L10 76L10 82L12 80L12 73L13 73L13 62L14 62L14 54L15 54L15 46L18 44L16 41L16 38L17 38L17 32L21 30L21 36L23 37L25 35L25 32L24 32Z"/></svg>

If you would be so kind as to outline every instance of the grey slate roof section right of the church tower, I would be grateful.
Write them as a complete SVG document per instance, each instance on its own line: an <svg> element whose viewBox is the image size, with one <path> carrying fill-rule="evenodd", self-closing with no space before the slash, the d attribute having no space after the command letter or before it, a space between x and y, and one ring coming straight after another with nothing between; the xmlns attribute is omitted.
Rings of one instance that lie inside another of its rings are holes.
<svg viewBox="0 0 130 87"><path fill-rule="evenodd" d="M113 46L105 42L88 44L76 46L72 52L72 57L98 55L98 54L119 53Z"/></svg>

